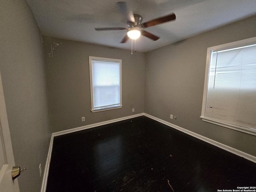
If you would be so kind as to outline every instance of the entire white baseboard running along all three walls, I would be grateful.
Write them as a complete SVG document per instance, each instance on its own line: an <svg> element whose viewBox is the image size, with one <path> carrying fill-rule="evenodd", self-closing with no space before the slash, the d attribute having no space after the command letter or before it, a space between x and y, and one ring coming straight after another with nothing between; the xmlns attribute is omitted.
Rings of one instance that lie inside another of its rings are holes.
<svg viewBox="0 0 256 192"><path fill-rule="evenodd" d="M204 137L202 135L199 135L199 134L196 134L192 131L189 131L189 130L186 130L184 128L181 128L179 126L176 126L174 124L171 124L169 122L166 122L164 120L161 120L159 118L156 118L154 116L151 116L149 114L146 114L146 113L141 113L141 114L136 114L136 115L132 115L132 116L127 116L127 117L122 117L122 118L118 118L118 119L114 119L114 120L109 120L109 121L104 121L104 122L100 122L100 123L95 123L95 124L91 124L91 125L86 125L86 126L82 126L82 127L78 127L78 128L73 128L73 129L69 129L69 130L64 130L64 131L60 131L60 132L55 132L52 134L52 137L51 137L51 140L50 140L50 146L49 146L49 151L48 151L48 156L47 156L47 160L46 160L46 165L45 165L45 168L44 168L44 177L43 177L43 182L42 182L42 188L41 188L41 192L46 192L46 186L47 186L47 179L48 179L48 173L49 173L49 168L50 168L50 162L51 162L51 155L52 155L52 146L53 146L53 140L54 140L54 137L55 136L60 136L60 135L64 135L64 134L68 134L68 133L72 133L72 132L76 132L76 131L81 131L81 130L85 130L85 129L89 129L89 128L94 128L94 127L97 127L97 126L102 126L102 125L106 125L106 124L110 124L110 123L114 123L114 122L118 122L118 121L122 121L122 120L126 120L126 119L131 119L131 118L135 118L135 117L139 117L139 116L146 116L148 118L151 118L153 120L156 120L162 124L165 124L167 126L170 126L176 130L179 130L181 132L184 132L190 136L193 136L195 138L198 138L204 142L207 142L209 144L212 144L216 147L219 147L221 149L224 149L228 152L231 152L233 154L236 154L240 157L243 157L247 160L250 160L254 163L256 163L256 157L255 156L252 156L250 154L247 154L245 152L242 152L240 150L237 150L235 148L232 148L230 146L227 146L227 145L224 145L220 142L216 142L212 139L209 139L207 137Z"/></svg>

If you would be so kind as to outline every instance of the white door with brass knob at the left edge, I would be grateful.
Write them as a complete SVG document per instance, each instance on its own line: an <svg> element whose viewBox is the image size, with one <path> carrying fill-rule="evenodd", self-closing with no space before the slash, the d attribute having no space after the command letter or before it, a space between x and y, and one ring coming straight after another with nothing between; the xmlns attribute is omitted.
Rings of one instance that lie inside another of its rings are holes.
<svg viewBox="0 0 256 192"><path fill-rule="evenodd" d="M20 191L18 180L12 180L13 166L15 162L0 74L0 192Z"/></svg>

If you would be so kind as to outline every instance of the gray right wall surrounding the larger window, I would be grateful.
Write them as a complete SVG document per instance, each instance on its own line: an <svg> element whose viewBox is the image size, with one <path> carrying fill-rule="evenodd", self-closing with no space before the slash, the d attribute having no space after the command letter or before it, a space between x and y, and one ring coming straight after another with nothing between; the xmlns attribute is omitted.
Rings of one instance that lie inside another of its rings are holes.
<svg viewBox="0 0 256 192"><path fill-rule="evenodd" d="M256 36L255 21L253 16L147 52L144 112L256 156L255 136L199 118L207 48Z"/></svg>

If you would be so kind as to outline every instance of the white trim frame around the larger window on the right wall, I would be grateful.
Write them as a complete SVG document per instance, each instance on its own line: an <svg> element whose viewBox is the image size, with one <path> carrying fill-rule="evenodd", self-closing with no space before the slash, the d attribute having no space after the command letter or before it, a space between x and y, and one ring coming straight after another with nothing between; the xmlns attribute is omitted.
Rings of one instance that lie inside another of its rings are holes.
<svg viewBox="0 0 256 192"><path fill-rule="evenodd" d="M209 78L210 59L211 59L210 57L211 57L212 51L225 50L225 49L232 48L232 47L235 47L235 46L236 47L244 46L244 45L250 44L250 43L255 44L256 43L256 37L207 48L206 69L205 69L205 77L204 77L204 92L203 92L203 101L202 101L202 112L201 112L200 118L205 122L209 122L209 123L212 123L212 124L216 124L216 125L219 125L219 126L223 126L223 127L226 127L226 128L230 128L230 129L233 129L233 130L237 130L237 131L240 131L240 132L244 132L244 133L256 136L256 130L253 129L253 128L250 129L250 128L246 128L246 127L242 127L242 126L236 126L236 125L228 124L228 123L224 123L224 122L218 122L218 121L212 120L210 118L205 118L206 98L207 98L207 90L208 90L208 78Z"/></svg>

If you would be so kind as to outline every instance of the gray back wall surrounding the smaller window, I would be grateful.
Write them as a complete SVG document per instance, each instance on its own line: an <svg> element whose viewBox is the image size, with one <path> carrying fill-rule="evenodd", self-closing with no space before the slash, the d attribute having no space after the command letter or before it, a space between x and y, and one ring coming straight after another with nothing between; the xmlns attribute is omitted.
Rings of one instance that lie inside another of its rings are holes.
<svg viewBox="0 0 256 192"><path fill-rule="evenodd" d="M59 46L50 57L53 42ZM144 53L50 37L44 37L44 50L53 132L144 112ZM89 56L122 59L122 108L90 111Z"/></svg>

